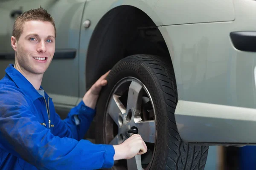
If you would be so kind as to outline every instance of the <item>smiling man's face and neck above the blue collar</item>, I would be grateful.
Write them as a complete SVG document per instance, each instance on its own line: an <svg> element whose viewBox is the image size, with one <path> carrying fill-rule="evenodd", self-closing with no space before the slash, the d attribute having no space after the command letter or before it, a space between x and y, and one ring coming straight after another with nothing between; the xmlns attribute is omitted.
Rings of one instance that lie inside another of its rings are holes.
<svg viewBox="0 0 256 170"><path fill-rule="evenodd" d="M20 19L20 22L15 23L11 37L12 48L15 50L14 67L32 83L35 89L39 89L43 74L55 52L55 26L52 22L40 20L23 22L23 20Z"/></svg>

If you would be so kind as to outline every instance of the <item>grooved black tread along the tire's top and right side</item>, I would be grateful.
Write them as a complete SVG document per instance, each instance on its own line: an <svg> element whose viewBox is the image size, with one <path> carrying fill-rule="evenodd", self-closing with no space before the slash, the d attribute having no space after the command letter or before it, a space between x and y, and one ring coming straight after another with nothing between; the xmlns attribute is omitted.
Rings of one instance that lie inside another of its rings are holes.
<svg viewBox="0 0 256 170"><path fill-rule="evenodd" d="M153 101L161 100L155 105L157 117L163 119L157 119L157 151L150 170L204 170L209 147L183 142L177 131L177 87L169 59L144 54L129 56L116 63L108 78L124 70L138 74L148 89L157 87L150 92L151 97Z"/></svg>

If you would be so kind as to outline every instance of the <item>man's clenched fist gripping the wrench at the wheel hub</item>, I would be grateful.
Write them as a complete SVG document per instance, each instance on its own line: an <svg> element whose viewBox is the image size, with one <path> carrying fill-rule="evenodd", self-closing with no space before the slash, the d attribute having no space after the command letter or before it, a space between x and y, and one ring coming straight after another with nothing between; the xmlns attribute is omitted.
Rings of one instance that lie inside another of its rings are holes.
<svg viewBox="0 0 256 170"><path fill-rule="evenodd" d="M134 134L122 144L113 145L115 150L114 161L119 159L131 159L136 155L142 155L148 148L140 135Z"/></svg>

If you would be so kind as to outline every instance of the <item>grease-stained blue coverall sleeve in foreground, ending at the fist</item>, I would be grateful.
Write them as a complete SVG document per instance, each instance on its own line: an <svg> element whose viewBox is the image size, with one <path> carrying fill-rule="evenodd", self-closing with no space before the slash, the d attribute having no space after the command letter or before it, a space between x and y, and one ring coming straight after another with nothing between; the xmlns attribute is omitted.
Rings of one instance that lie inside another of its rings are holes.
<svg viewBox="0 0 256 170"><path fill-rule="evenodd" d="M41 170L110 168L115 153L112 145L54 136L13 89L0 89L0 147Z"/></svg>

